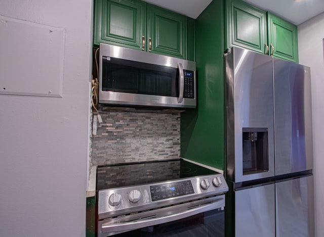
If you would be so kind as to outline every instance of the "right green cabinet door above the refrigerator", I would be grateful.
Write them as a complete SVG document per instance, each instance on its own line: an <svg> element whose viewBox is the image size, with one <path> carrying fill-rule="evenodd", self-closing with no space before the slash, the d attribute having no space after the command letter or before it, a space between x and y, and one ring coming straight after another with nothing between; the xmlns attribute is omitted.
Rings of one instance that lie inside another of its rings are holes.
<svg viewBox="0 0 324 237"><path fill-rule="evenodd" d="M269 54L298 63L297 26L269 12L267 15Z"/></svg>

